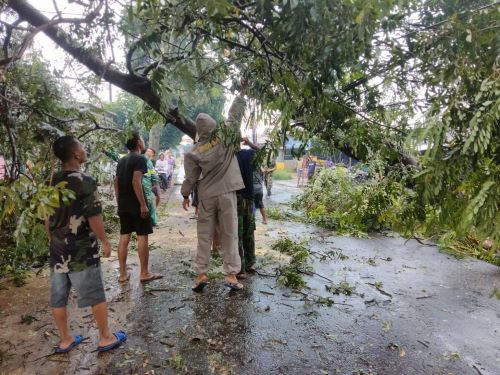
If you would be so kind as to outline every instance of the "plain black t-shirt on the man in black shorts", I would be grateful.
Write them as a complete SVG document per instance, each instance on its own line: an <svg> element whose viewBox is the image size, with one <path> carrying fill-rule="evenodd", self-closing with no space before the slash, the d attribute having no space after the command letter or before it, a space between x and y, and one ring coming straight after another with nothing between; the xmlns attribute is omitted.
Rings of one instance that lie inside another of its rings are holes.
<svg viewBox="0 0 500 375"><path fill-rule="evenodd" d="M140 210L139 200L137 199L132 178L134 171L140 171L143 174L148 172L146 158L135 152L129 152L118 162L116 167L116 177L118 178L118 213L129 212L137 214Z"/></svg>

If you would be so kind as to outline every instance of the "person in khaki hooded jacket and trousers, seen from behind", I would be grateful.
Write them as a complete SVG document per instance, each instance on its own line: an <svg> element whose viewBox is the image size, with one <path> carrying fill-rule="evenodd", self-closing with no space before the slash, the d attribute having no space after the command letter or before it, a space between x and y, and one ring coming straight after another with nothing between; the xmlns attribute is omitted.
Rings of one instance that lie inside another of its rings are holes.
<svg viewBox="0 0 500 375"><path fill-rule="evenodd" d="M237 96L229 110L227 124L239 134L246 101ZM224 145L213 137L215 120L206 113L196 117L198 142L184 156L185 178L181 187L182 206L189 207L189 194L198 182L198 247L195 268L198 272L193 291L201 291L208 284L207 271L210 260L214 227L219 224L225 285L232 290L243 288L236 274L240 272L238 253L238 216L236 191L244 188L233 145Z"/></svg>

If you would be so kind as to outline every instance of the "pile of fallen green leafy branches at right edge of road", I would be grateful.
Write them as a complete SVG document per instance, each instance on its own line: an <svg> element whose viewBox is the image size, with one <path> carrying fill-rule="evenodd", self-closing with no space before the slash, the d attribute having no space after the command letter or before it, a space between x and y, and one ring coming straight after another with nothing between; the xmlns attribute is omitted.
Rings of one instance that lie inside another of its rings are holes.
<svg viewBox="0 0 500 375"><path fill-rule="evenodd" d="M324 169L292 205L303 209L314 224L340 233L360 235L391 229L408 237L423 235L437 239L442 251L459 258L472 256L500 265L496 241L485 249L474 231L458 235L453 229L456 218L443 221L442 212L423 203L418 185L415 190L405 186L411 183L408 171L358 182L346 168Z"/></svg>

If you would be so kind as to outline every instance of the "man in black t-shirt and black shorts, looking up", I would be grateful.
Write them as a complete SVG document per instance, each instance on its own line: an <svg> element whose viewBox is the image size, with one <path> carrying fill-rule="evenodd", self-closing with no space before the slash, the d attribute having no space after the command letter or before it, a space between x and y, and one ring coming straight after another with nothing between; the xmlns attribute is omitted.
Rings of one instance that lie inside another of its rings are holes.
<svg viewBox="0 0 500 375"><path fill-rule="evenodd" d="M131 134L126 146L129 153L120 159L116 168L115 194L120 217L120 242L118 261L120 263L119 281L130 278L127 271L128 244L132 232L137 233L137 252L139 254L141 282L161 278L149 271L148 235L153 233L153 223L144 199L142 178L148 172L144 140L138 132Z"/></svg>

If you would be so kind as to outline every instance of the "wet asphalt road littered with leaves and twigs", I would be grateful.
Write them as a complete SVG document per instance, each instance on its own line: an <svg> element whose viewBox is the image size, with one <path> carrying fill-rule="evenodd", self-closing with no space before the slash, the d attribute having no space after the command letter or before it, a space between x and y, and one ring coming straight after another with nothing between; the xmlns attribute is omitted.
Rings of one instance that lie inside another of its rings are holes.
<svg viewBox="0 0 500 375"><path fill-rule="evenodd" d="M286 208L297 192L276 182L266 203ZM127 343L101 356L87 345L67 361L42 359L18 373L500 374L500 301L489 297L500 287L500 268L399 237L336 237L297 222L264 226L258 218L261 275L229 292L216 262L210 285L195 294L195 220L178 198L170 196L151 238L152 269L163 279L139 285L132 256L133 277L118 285L116 260L104 265L112 326L128 331ZM314 274L300 292L274 277L286 257L270 244L284 236L305 240L312 251ZM342 282L350 296L326 288ZM88 314L72 313L73 325Z"/></svg>

